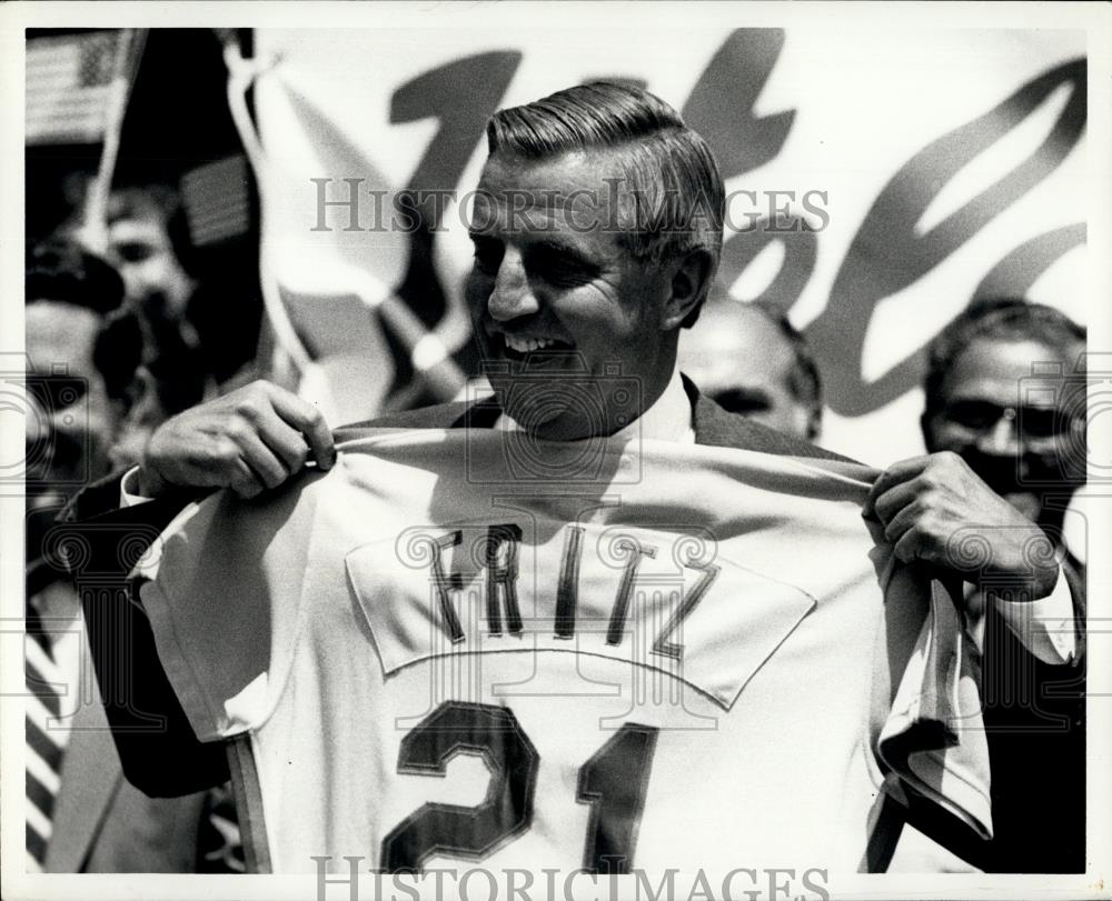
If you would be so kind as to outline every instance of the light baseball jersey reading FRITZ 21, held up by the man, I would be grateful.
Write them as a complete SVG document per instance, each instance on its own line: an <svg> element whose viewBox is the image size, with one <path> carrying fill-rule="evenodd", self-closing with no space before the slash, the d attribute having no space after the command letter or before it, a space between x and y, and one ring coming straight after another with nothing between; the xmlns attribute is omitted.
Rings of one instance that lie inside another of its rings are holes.
<svg viewBox="0 0 1112 901"><path fill-rule="evenodd" d="M141 588L260 867L852 872L900 783L990 834L957 613L863 519L872 470L494 430L339 450L185 511Z"/></svg>

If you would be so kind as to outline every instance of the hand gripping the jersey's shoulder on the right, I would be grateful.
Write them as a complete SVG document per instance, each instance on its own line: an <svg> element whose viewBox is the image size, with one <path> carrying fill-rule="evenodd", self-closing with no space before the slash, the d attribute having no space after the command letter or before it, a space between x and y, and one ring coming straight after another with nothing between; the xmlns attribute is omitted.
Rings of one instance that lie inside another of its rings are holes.
<svg viewBox="0 0 1112 901"><path fill-rule="evenodd" d="M956 453L913 457L886 469L863 514L884 525L896 557L960 572L974 584L1023 588L1045 598L1058 580L1054 544Z"/></svg>

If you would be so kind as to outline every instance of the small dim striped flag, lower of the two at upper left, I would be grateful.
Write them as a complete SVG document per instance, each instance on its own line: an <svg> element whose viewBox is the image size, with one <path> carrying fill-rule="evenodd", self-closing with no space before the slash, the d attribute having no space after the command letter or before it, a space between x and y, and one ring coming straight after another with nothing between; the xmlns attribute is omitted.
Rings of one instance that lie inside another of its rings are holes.
<svg viewBox="0 0 1112 901"><path fill-rule="evenodd" d="M215 244L248 231L249 178L242 154L199 166L181 178L181 197L195 247Z"/></svg>

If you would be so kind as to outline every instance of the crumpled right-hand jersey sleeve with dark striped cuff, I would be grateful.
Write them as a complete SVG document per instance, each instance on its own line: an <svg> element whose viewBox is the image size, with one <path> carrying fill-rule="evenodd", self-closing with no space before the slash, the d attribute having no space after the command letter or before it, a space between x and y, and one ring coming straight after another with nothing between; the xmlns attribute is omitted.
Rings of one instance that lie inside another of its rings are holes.
<svg viewBox="0 0 1112 901"><path fill-rule="evenodd" d="M941 808L955 828L990 839L980 660L959 603L924 571L894 565L885 590L884 648L894 691L875 741L897 784Z"/></svg>

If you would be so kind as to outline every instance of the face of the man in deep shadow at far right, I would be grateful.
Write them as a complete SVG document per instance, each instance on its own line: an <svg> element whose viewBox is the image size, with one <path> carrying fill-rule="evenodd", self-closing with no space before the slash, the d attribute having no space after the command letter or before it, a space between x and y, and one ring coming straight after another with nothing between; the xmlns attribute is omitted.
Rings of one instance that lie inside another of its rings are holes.
<svg viewBox="0 0 1112 901"><path fill-rule="evenodd" d="M1076 487L1061 474L1060 461L1076 455L1083 422L1065 412L1076 400L1071 386L1060 378L1032 378L1035 362L1061 363L1070 372L1074 360L1037 341L970 342L943 382L939 412L924 418L923 433L929 451L960 454L1037 522L1045 512L1044 491Z"/></svg>

